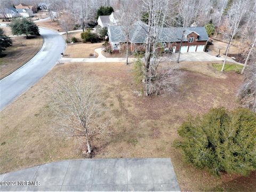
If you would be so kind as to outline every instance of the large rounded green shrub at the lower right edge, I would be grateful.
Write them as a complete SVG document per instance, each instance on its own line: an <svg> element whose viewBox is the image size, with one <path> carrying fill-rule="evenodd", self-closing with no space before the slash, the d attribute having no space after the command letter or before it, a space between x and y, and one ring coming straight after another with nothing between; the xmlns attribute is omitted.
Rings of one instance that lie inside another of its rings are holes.
<svg viewBox="0 0 256 192"><path fill-rule="evenodd" d="M256 114L245 108L211 109L189 117L179 130L177 147L186 161L212 173L248 174L256 170Z"/></svg>

